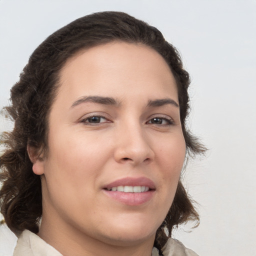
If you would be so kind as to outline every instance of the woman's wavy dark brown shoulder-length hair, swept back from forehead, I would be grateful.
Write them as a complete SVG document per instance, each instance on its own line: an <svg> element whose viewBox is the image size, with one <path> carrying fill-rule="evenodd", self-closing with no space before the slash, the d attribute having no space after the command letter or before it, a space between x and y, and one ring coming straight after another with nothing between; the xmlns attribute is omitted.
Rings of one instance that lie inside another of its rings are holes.
<svg viewBox="0 0 256 256"><path fill-rule="evenodd" d="M0 209L6 224L15 233L24 229L38 232L42 214L41 181L32 171L26 146L47 151L47 120L59 86L60 69L79 50L116 40L148 45L165 59L177 83L187 155L204 151L185 125L189 111L189 75L177 50L165 41L161 32L123 12L98 12L78 18L35 49L19 81L11 88L12 104L5 107L14 120L14 128L3 134L6 149L0 158ZM198 222L199 217L179 181L173 203L157 230L155 246L160 249L166 242L164 229L167 228L170 235L174 226L188 220Z"/></svg>

